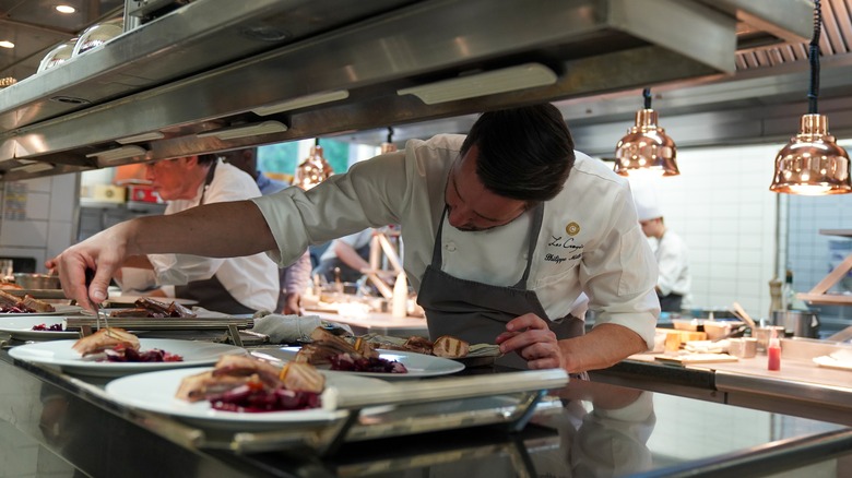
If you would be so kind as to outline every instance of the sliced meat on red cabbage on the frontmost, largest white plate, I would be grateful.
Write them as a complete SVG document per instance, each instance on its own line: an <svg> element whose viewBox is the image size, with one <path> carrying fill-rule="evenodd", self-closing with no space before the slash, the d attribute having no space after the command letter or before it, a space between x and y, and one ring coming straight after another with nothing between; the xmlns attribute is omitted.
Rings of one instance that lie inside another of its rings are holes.
<svg viewBox="0 0 852 478"><path fill-rule="evenodd" d="M284 411L318 408L326 378L309 363L277 368L249 356L222 356L213 370L185 378L175 397L209 401L225 411Z"/></svg>

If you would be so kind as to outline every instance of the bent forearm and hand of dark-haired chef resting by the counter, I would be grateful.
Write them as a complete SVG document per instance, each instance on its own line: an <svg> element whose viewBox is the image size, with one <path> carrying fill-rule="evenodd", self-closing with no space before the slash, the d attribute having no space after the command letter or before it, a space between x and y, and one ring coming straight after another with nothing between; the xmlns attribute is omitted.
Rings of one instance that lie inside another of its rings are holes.
<svg viewBox="0 0 852 478"><path fill-rule="evenodd" d="M605 369L648 349L639 334L617 324L600 324L580 337L557 340L543 319L528 313L509 321L506 330L496 339L500 351L519 354L530 369Z"/></svg>

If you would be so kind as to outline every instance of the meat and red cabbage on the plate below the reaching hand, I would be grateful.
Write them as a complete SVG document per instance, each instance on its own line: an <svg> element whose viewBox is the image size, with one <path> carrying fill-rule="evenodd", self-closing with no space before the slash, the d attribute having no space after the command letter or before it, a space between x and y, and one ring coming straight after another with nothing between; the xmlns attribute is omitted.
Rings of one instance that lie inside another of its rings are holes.
<svg viewBox="0 0 852 478"><path fill-rule="evenodd" d="M139 338L120 327L104 327L78 339L72 349L84 359L109 362L180 362L184 357L157 348L140 350Z"/></svg>

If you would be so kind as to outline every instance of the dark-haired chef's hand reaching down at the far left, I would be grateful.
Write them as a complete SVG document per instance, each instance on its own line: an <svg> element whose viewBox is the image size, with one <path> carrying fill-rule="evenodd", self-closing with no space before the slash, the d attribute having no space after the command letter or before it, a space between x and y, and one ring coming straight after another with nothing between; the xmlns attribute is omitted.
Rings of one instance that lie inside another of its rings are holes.
<svg viewBox="0 0 852 478"><path fill-rule="evenodd" d="M62 291L81 307L92 309L93 303L106 300L107 287L113 275L123 262L127 246L115 227L92 236L66 249L45 262L47 268L59 272ZM95 271L92 284L86 288L85 271ZM93 310L93 312L96 312Z"/></svg>

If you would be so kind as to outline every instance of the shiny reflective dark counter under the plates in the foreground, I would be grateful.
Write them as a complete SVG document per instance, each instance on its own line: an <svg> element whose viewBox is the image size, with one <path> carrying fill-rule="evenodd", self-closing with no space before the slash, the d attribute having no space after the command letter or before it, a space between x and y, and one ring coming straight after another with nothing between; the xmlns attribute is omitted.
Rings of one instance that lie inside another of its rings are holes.
<svg viewBox="0 0 852 478"><path fill-rule="evenodd" d="M510 373L500 377L511 381ZM107 380L15 361L4 349L0 420L22 442L94 477L852 474L852 429L844 426L597 382L571 380L552 391L520 431L474 427L377 438L322 455L193 445L193 433L204 430L111 401L103 391ZM12 462L27 456L8 454L10 463L0 465L22 469Z"/></svg>

